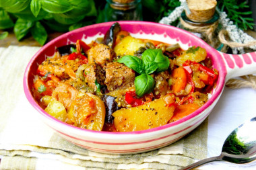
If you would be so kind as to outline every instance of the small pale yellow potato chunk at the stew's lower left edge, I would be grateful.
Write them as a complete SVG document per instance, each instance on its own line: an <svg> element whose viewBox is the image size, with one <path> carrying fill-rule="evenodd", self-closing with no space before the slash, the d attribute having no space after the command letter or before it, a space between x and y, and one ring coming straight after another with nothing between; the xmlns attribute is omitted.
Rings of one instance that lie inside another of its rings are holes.
<svg viewBox="0 0 256 170"><path fill-rule="evenodd" d="M67 112L66 112L66 109L65 109L63 103L61 103L55 99L51 99L50 103L45 108L45 112L47 112L51 116L53 116L63 122L65 121L65 119L67 117Z"/></svg>

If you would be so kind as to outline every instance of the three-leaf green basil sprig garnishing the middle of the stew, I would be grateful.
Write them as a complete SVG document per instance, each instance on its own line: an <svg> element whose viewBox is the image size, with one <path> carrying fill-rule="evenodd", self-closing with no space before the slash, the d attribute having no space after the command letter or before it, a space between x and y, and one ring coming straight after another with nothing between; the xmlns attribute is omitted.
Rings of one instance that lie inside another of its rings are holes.
<svg viewBox="0 0 256 170"><path fill-rule="evenodd" d="M143 52L141 58L130 55L123 56L117 62L123 63L139 73L134 81L135 93L138 97L153 91L155 81L150 74L166 71L170 65L168 57L162 54L161 49L147 49Z"/></svg>

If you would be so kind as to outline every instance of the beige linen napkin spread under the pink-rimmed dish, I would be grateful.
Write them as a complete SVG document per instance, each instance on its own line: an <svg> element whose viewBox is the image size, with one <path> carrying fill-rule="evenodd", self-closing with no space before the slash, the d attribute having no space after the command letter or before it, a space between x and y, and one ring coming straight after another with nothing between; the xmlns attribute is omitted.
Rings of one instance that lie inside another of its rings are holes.
<svg viewBox="0 0 256 170"><path fill-rule="evenodd" d="M23 91L26 65L39 49L0 48L0 169L179 169L207 157L207 120L174 144L135 155L95 153L59 137Z"/></svg>

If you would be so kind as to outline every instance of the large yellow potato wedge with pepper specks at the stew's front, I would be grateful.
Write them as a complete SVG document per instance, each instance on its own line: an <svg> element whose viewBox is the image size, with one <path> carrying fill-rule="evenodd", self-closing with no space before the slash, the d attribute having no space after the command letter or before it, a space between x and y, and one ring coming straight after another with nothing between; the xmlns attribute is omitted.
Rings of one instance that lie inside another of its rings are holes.
<svg viewBox="0 0 256 170"><path fill-rule="evenodd" d="M114 112L114 125L118 132L130 132L156 128L167 124L174 112L174 95L167 94L160 99L134 108Z"/></svg>

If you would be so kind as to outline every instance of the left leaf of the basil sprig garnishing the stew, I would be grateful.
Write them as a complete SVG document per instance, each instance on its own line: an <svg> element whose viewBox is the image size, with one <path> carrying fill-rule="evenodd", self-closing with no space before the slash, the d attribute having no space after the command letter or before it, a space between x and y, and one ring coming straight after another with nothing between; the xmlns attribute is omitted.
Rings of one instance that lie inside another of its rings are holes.
<svg viewBox="0 0 256 170"><path fill-rule="evenodd" d="M144 65L141 60L141 58L137 58L137 56L123 56L117 62L125 64L130 69L133 69L133 71L136 71L139 74L142 74L145 72Z"/></svg>

